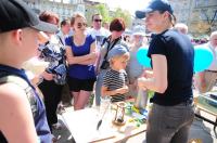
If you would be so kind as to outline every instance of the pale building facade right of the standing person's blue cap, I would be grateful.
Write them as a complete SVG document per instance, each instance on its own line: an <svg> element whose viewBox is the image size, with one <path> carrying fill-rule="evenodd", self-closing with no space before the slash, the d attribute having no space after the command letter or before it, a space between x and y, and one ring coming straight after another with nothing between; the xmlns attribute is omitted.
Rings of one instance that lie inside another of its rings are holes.
<svg viewBox="0 0 217 143"><path fill-rule="evenodd" d="M169 0L178 23L195 37L217 30L217 0Z"/></svg>

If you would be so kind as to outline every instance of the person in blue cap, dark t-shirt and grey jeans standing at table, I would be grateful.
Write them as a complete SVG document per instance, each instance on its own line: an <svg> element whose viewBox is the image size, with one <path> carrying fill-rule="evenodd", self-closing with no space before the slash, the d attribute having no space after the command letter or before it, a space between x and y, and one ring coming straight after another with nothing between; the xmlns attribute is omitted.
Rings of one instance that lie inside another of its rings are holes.
<svg viewBox="0 0 217 143"><path fill-rule="evenodd" d="M136 12L155 34L148 52L153 70L139 78L140 88L155 91L150 101L146 143L188 143L194 118L194 50L190 39L173 28L173 12L167 0L152 0L144 11Z"/></svg>

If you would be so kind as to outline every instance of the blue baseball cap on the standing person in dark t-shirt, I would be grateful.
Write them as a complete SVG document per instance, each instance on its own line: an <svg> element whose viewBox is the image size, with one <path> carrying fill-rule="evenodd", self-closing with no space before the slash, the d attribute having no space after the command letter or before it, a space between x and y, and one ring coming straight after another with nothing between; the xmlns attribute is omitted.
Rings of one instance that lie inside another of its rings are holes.
<svg viewBox="0 0 217 143"><path fill-rule="evenodd" d="M168 0L152 0L144 10L136 11L136 16L138 18L144 18L146 13L153 11L168 11L170 14L174 13L174 10L171 9Z"/></svg>

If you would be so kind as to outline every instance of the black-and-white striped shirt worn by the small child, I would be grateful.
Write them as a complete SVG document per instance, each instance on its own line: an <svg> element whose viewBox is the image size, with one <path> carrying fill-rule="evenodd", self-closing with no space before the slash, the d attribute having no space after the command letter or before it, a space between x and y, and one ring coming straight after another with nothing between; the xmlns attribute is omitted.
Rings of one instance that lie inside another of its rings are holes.
<svg viewBox="0 0 217 143"><path fill-rule="evenodd" d="M103 86L107 87L108 91L123 88L127 83L128 83L128 77L127 73L124 69L120 72L108 69L103 77ZM119 102L124 100L125 100L125 94L112 95L112 102Z"/></svg>

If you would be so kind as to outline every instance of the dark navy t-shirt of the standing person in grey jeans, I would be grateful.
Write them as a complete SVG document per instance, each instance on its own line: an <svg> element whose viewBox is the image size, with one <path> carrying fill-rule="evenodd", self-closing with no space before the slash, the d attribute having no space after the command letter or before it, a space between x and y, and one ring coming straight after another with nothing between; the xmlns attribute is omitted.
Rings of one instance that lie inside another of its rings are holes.
<svg viewBox="0 0 217 143"><path fill-rule="evenodd" d="M176 30L165 30L153 37L148 56L152 54L166 56L168 87L164 93L155 92L151 102L173 106L192 100L194 50L190 39Z"/></svg>

